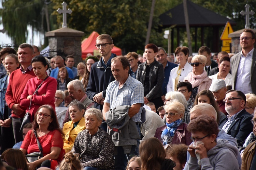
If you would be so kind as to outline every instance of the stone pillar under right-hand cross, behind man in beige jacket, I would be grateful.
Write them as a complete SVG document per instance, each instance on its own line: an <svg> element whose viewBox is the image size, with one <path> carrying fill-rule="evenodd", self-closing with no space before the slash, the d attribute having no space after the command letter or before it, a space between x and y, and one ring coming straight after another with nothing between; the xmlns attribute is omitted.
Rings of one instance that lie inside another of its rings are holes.
<svg viewBox="0 0 256 170"><path fill-rule="evenodd" d="M242 30L238 30L235 32L232 32L230 34L228 34L228 37L231 38L231 53L239 53L242 51L242 47L240 46L240 34L243 32L244 29ZM254 29L250 29L253 30L256 33L256 30ZM254 43L254 48L256 48L256 44Z"/></svg>

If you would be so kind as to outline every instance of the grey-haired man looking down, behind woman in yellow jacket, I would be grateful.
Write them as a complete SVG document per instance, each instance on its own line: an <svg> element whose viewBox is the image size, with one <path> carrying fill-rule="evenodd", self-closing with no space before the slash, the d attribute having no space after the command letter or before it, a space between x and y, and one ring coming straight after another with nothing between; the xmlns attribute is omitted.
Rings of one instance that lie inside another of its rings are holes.
<svg viewBox="0 0 256 170"><path fill-rule="evenodd" d="M85 111L87 111L89 108L94 108L94 101L90 100L86 93L85 93L85 89L84 89L84 85L80 80L73 80L71 82L68 83L67 85L68 87L68 92L69 92L69 96L72 100L78 100L81 103L84 104L85 107ZM66 117L63 121L63 124L70 121L70 115L69 115L69 109L66 112Z"/></svg>

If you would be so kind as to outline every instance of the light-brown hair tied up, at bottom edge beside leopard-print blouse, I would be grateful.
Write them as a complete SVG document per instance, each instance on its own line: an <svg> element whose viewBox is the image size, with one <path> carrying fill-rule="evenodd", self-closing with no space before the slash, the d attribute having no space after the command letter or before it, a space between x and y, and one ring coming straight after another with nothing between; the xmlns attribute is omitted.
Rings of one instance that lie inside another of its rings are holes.
<svg viewBox="0 0 256 170"><path fill-rule="evenodd" d="M78 170L82 169L81 162L78 159L79 153L68 152L64 155L59 167L60 170ZM56 168L57 168L56 167Z"/></svg>

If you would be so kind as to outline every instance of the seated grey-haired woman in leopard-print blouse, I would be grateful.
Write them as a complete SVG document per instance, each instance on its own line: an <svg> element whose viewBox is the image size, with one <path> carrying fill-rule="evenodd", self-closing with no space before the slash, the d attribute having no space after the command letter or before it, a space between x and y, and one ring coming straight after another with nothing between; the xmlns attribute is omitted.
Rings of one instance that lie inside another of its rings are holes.
<svg viewBox="0 0 256 170"><path fill-rule="evenodd" d="M84 118L86 129L77 135L71 151L80 154L84 170L114 170L114 143L109 134L99 128L103 119L101 111L90 108Z"/></svg>

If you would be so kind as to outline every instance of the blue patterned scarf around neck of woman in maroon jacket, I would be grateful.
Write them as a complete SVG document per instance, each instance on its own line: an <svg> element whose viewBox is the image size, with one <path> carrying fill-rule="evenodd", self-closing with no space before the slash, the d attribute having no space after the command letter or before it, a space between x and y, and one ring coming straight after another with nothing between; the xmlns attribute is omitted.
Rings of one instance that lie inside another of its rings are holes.
<svg viewBox="0 0 256 170"><path fill-rule="evenodd" d="M175 131L178 129L178 126L181 125L182 119L181 120L176 120L172 122L171 124L168 124L166 122L167 128L163 130L162 135L161 135L161 141L163 141L163 145L167 145L168 140L170 137L173 137L175 134Z"/></svg>

